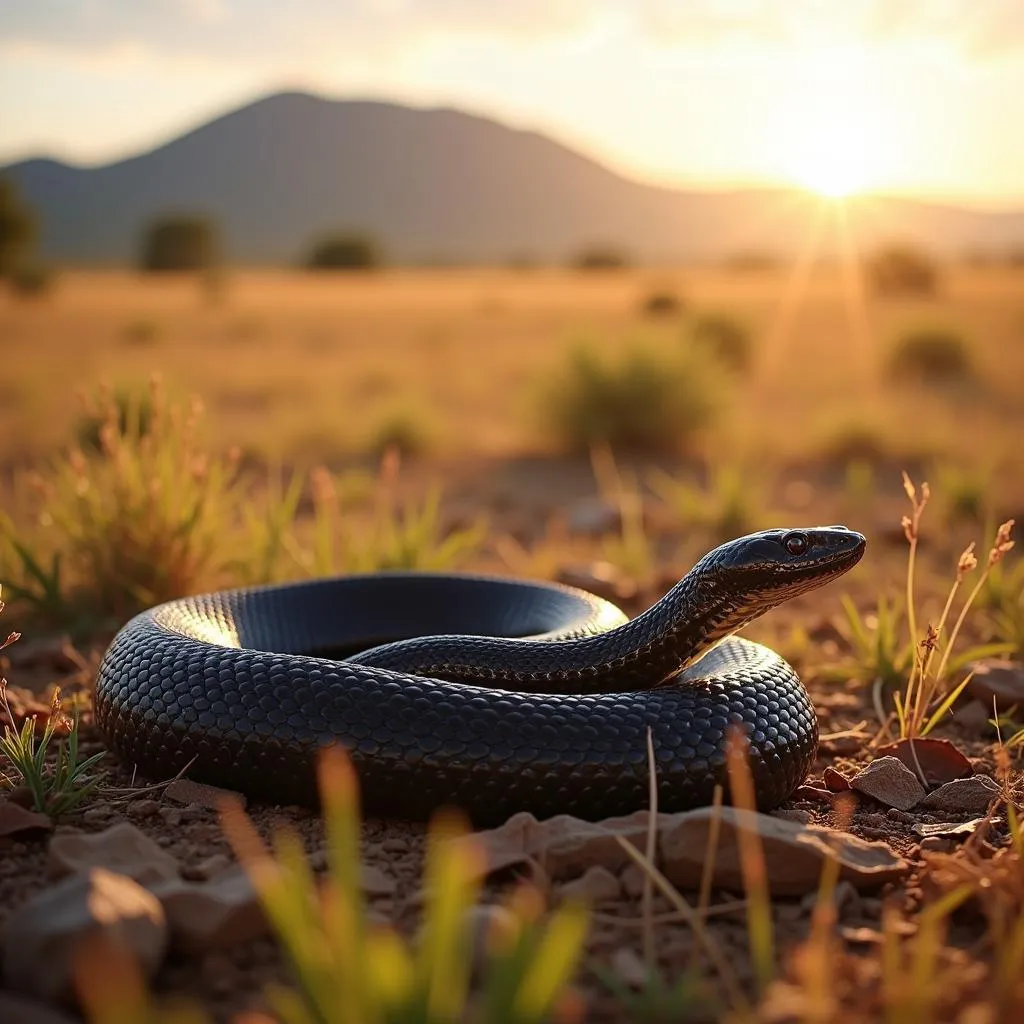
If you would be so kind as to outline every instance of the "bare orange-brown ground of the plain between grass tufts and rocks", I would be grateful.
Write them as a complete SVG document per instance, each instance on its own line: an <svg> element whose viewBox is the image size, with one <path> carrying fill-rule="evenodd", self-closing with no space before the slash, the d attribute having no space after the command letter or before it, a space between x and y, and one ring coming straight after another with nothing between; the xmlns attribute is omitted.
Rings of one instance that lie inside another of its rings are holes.
<svg viewBox="0 0 1024 1024"><path fill-rule="evenodd" d="M668 319L646 316L643 301L658 290L678 293L684 311ZM655 465L696 478L705 478L717 462L748 467L764 478L756 501L758 526L845 522L867 536L867 555L848 578L744 631L788 657L812 693L823 738L809 781L820 788L826 767L852 775L871 760L879 740L869 687L855 666L835 671L849 654L837 623L842 594L867 611L880 594L902 588L906 543L899 519L906 499L900 470L919 480L929 477L936 492L922 548L921 592L930 614L941 607L968 541L982 547L995 522L1010 516L1024 522L1020 273L956 269L936 297L888 301L851 288L829 269L805 285L782 271L712 269L591 275L396 271L354 280L254 271L229 275L224 293L213 301L190 280L68 273L54 294L39 302L0 299L3 494L17 508L26 489L20 474L42 465L74 429L76 388L98 379L133 382L159 370L174 388L203 395L216 446L242 444L258 463L360 464L381 419L412 410L429 425L433 440L425 456L403 468L406 485L415 490L442 481L453 521L480 512L488 518L490 540L468 567L557 578L566 567L604 558L607 550L601 536L571 525L573 510L599 487L586 459L558 456L539 433L532 406L537 382L581 337L609 351L638 335L671 345L684 337L694 311L722 309L754 332L753 376L736 386L696 456L626 460L623 468L645 479ZM888 379L891 339L919 322L952 324L965 333L979 367L974 383L942 391ZM851 485L854 462L869 467L870 482L859 493ZM955 486L950 474L959 481ZM958 516L946 502L964 489L966 476L982 481L974 519ZM630 613L656 599L715 541L707 524L674 521L656 503L645 514L657 571L635 593L629 587L622 591L618 603ZM12 617L14 610L5 612L4 626L27 632ZM97 636L79 643L84 668L41 665L5 674L12 685L38 693L53 682L88 688L89 658L108 640ZM937 735L953 739L978 771L996 770L983 716L950 718ZM91 744L100 743L95 734L88 737ZM112 781L131 784L127 766L117 769ZM249 811L264 834L289 821L300 828L310 852L318 849L319 822L309 812L259 804L250 804ZM820 795L793 800L775 813L836 824L833 802ZM916 809L902 812L866 797L858 800L849 830L888 844L908 858L911 871L904 884L853 893L839 908L844 968L837 987L850 1009L848 1019L881 1019L869 996L858 1006L857 987L873 991L886 901L909 920L932 891L914 825L970 816L937 819ZM229 853L213 811L182 808L160 794L90 801L57 830L95 831L121 819L153 836L186 870L213 854ZM362 842L368 862L395 883L393 893L373 900L374 909L412 932L419 915L423 826L369 820ZM0 839L0 924L46 884L45 841ZM716 893L713 902L732 903L739 895ZM586 1019L626 1020L622 1005L591 968L611 963L624 948L642 953L639 894L624 884L595 910L588 966L579 982ZM671 910L655 897L658 915ZM773 901L783 962L806 938L811 910L806 899ZM710 927L740 976L749 978L742 910L713 916ZM950 935L948 956L957 970L987 963L983 934L980 924L968 921ZM690 965L692 943L685 924L658 924L657 958L668 977ZM264 938L202 958L172 959L156 987L198 996L215 1019L226 1021L242 1009L262 1006L263 984L285 975L273 943ZM975 980L943 1006L943 1019L967 1019L957 1015L984 974L968 970L964 977Z"/></svg>

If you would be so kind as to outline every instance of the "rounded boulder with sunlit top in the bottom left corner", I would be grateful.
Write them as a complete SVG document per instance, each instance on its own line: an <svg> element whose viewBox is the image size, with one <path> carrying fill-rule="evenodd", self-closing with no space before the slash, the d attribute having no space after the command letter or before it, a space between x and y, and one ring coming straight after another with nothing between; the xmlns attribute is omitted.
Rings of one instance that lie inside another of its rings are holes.
<svg viewBox="0 0 1024 1024"><path fill-rule="evenodd" d="M160 901L138 883L101 867L44 889L7 920L4 983L54 1002L72 1001L75 951L98 936L129 951L152 977L167 948Z"/></svg>

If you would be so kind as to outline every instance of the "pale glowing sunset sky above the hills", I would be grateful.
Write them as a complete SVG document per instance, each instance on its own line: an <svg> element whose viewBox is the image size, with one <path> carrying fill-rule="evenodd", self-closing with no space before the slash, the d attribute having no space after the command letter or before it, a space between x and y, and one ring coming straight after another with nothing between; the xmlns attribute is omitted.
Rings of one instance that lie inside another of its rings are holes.
<svg viewBox="0 0 1024 1024"><path fill-rule="evenodd" d="M105 163L281 89L664 184L1024 203L1024 0L0 0L0 164Z"/></svg>

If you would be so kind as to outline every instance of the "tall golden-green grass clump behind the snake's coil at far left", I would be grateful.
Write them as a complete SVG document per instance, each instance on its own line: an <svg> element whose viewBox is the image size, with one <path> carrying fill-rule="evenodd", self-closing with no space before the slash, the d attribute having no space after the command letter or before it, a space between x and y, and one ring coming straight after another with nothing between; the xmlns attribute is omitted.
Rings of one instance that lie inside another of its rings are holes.
<svg viewBox="0 0 1024 1024"><path fill-rule="evenodd" d="M169 401L154 381L144 404L119 404L108 389L86 412L100 424L97 446L75 445L33 478L41 538L60 538L49 564L3 530L14 556L4 584L66 627L82 616L120 623L212 583L239 504L237 455L203 449L198 400Z"/></svg>

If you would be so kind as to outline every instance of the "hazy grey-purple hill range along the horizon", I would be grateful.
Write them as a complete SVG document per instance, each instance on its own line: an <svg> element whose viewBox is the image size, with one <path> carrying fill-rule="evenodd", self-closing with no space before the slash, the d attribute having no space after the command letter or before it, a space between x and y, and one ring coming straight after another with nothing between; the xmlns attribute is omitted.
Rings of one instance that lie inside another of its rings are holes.
<svg viewBox="0 0 1024 1024"><path fill-rule="evenodd" d="M694 145L699 140L694 140ZM799 191L684 191L631 181L536 132L450 110L268 96L103 167L37 159L0 170L42 219L43 254L133 261L162 213L215 218L228 257L292 263L318 234L356 228L396 261L563 261L606 243L645 261L788 253L813 201ZM1024 242L1024 211L862 202L860 244L932 251Z"/></svg>

